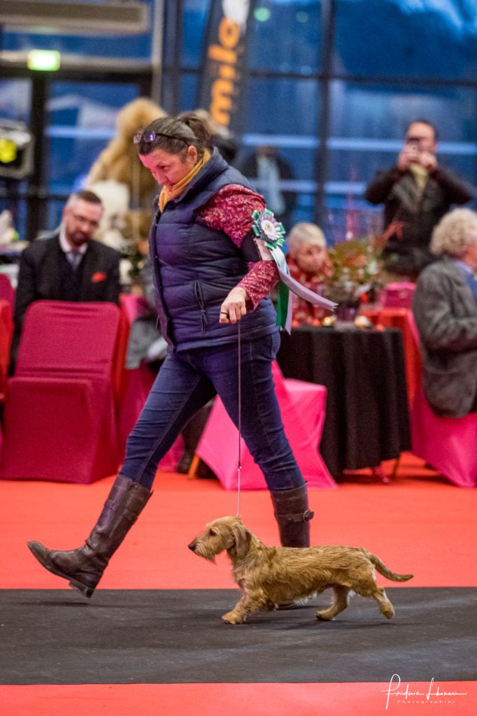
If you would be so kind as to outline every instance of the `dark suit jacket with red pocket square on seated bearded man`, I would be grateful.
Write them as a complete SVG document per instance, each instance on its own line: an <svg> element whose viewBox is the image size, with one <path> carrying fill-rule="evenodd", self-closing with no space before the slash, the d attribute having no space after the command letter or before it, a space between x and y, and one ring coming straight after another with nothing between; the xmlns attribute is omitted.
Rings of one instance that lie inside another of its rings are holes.
<svg viewBox="0 0 477 716"><path fill-rule="evenodd" d="M21 253L18 286L15 294L14 336L11 342L11 369L16 362L26 309L33 301L64 301L60 289L60 261L64 253L59 245L59 231L33 241ZM82 281L78 301L119 303L120 254L99 241L89 241L82 258Z"/></svg>

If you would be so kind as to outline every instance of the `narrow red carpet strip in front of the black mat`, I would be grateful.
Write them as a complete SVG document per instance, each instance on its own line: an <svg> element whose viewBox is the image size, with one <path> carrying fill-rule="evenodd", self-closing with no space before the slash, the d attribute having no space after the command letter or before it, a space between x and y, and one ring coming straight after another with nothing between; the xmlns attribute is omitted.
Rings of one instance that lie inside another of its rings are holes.
<svg viewBox="0 0 477 716"><path fill-rule="evenodd" d="M390 684L380 683L3 686L0 716L475 716L476 682L406 687L387 704Z"/></svg>

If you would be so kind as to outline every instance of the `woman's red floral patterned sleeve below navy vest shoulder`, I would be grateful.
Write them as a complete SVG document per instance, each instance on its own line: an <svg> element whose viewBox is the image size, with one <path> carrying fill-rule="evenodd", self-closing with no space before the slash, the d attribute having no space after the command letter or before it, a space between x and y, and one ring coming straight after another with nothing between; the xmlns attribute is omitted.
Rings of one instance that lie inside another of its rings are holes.
<svg viewBox="0 0 477 716"><path fill-rule="evenodd" d="M264 208L263 196L239 184L229 184L203 206L201 218L211 228L224 231L240 247L252 227L252 213L255 210L263 211ZM253 308L256 308L278 278L273 260L250 262L249 272L238 286L245 289Z"/></svg>

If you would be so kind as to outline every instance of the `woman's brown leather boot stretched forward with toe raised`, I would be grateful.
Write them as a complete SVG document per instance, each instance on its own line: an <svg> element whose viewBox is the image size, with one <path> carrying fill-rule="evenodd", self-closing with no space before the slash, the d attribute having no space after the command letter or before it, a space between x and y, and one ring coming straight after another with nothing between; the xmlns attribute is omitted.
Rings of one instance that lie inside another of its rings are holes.
<svg viewBox="0 0 477 716"><path fill-rule="evenodd" d="M140 516L150 495L143 485L118 475L100 518L82 547L62 552L47 549L39 542L29 542L28 546L46 569L68 579L69 586L90 599L110 557Z"/></svg>

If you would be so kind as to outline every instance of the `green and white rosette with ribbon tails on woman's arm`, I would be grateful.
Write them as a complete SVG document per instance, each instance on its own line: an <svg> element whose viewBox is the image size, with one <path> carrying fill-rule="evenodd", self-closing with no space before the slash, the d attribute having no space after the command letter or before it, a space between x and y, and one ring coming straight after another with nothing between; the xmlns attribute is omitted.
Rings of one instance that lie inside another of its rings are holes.
<svg viewBox="0 0 477 716"><path fill-rule="evenodd" d="M265 209L261 212L254 211L252 218L254 219L252 231L256 238L259 239L259 241L263 241L266 248L269 249L279 272L279 294L276 304L277 326L285 329L288 333L291 332L293 306L289 294L290 291L293 291L293 293L301 299L309 301L313 306L320 306L321 308L327 309L327 311L333 311L337 304L328 299L324 299L323 296L316 294L314 291L310 291L305 286L302 286L302 284L299 284L298 281L291 278L285 255L283 251L281 251L285 236L284 226L279 223L279 221L276 221L273 212L269 211L269 209Z"/></svg>

